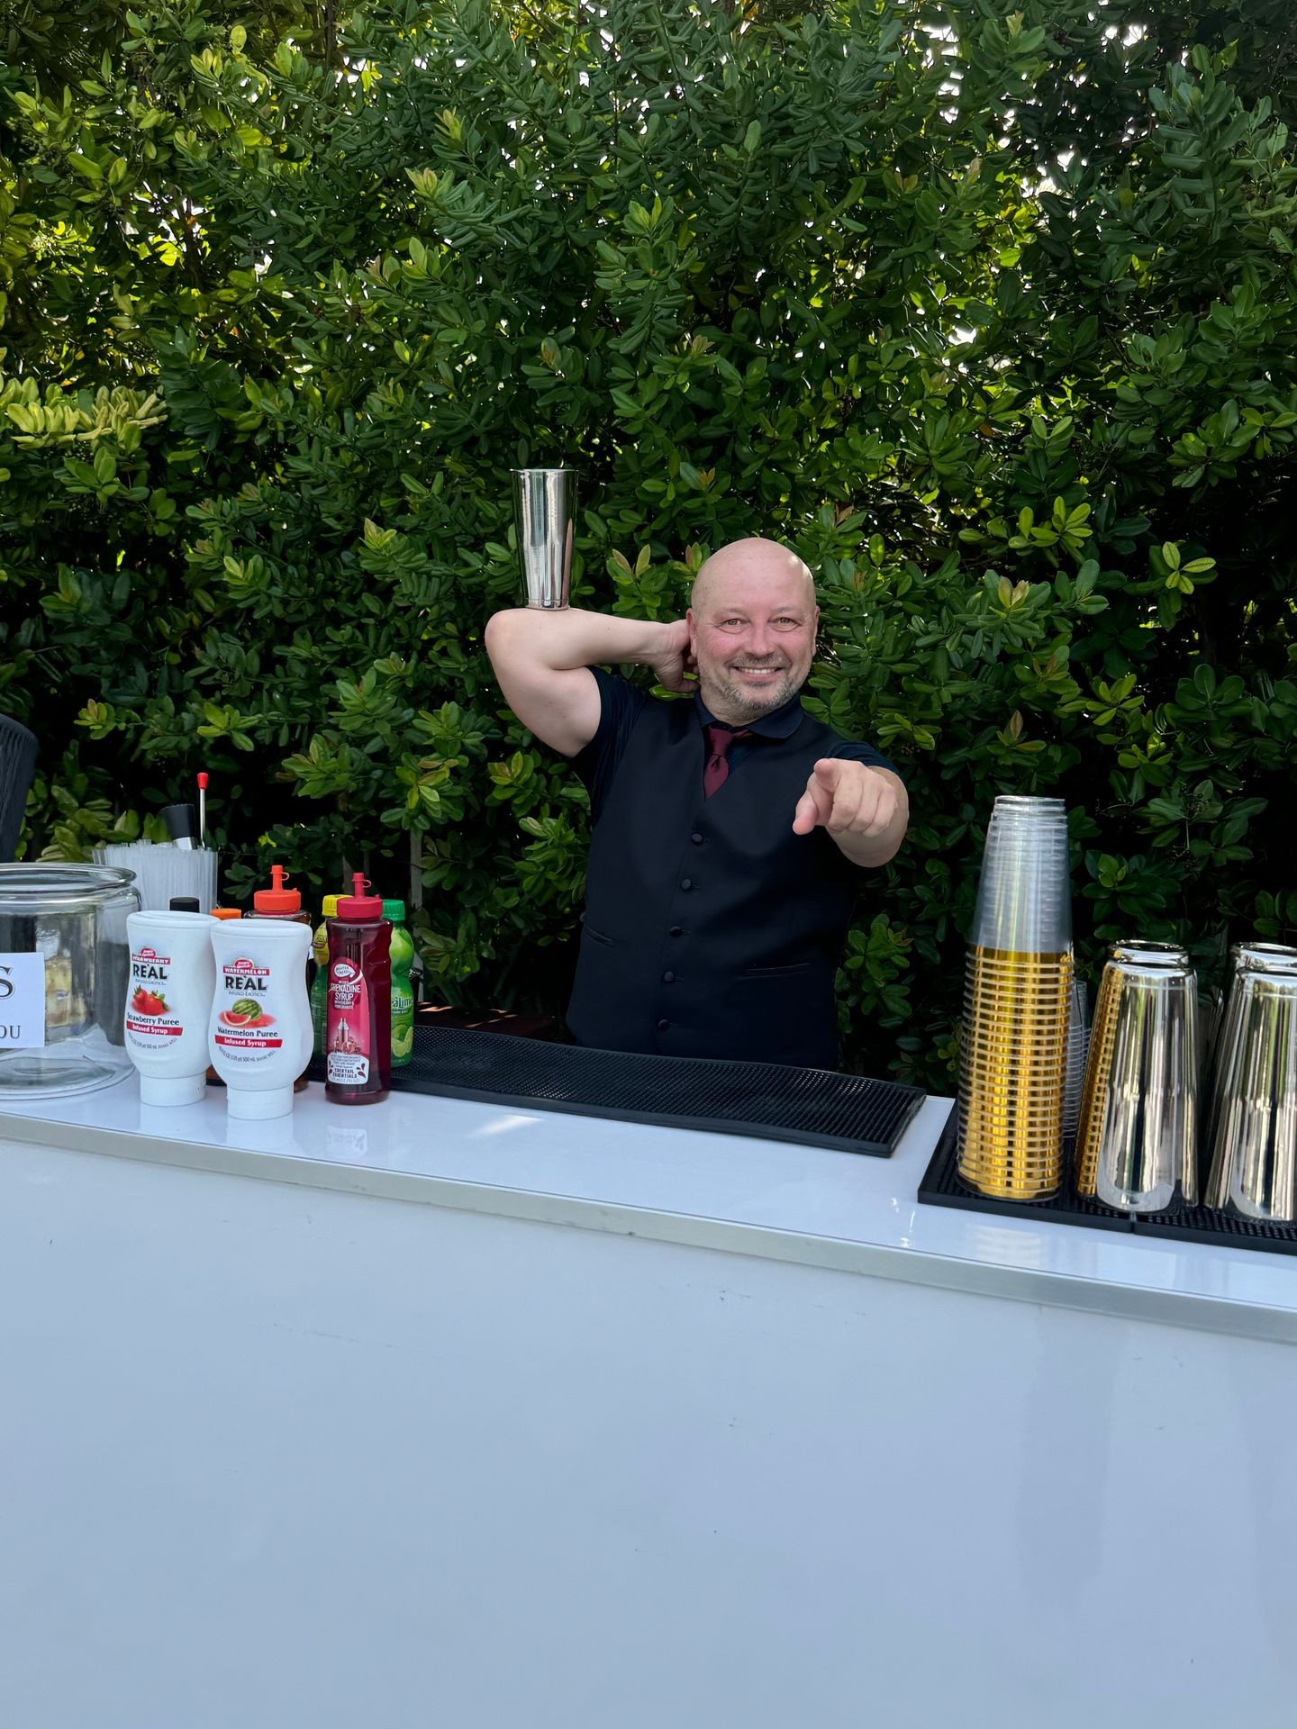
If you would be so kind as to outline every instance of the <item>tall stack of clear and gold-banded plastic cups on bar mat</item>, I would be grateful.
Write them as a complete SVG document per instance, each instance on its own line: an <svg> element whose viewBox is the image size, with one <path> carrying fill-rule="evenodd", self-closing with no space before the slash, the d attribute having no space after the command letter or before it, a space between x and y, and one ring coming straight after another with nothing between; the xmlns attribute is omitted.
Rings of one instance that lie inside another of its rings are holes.
<svg viewBox="0 0 1297 1729"><path fill-rule="evenodd" d="M963 1181L1050 1200L1064 1174L1072 894L1062 799L996 799L968 934L960 1063Z"/></svg>

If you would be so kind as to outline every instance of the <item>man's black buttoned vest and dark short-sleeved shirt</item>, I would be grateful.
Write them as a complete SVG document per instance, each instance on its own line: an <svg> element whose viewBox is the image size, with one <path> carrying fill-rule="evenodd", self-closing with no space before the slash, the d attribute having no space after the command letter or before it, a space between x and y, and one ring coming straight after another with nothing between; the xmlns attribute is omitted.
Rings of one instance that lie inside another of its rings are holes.
<svg viewBox="0 0 1297 1729"><path fill-rule="evenodd" d="M648 702L590 842L579 1044L832 1069L858 868L792 813L837 733L759 738L711 799L692 702Z"/></svg>

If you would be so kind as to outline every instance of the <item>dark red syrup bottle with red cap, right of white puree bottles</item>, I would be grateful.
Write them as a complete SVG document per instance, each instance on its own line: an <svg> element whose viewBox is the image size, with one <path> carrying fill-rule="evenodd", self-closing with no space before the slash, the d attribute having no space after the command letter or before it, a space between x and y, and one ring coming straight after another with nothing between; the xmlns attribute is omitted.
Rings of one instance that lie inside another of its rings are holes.
<svg viewBox="0 0 1297 1729"><path fill-rule="evenodd" d="M393 1082L393 927L355 873L329 920L325 1098L377 1105Z"/></svg>

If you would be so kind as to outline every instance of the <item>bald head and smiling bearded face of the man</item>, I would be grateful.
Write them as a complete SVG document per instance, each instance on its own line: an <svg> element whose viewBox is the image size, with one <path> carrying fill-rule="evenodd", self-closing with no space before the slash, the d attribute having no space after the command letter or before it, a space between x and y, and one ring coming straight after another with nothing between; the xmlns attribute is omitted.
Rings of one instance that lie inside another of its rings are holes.
<svg viewBox="0 0 1297 1729"><path fill-rule="evenodd" d="M806 683L820 609L811 572L787 546L721 546L697 574L687 619L699 690L718 721L756 721Z"/></svg>

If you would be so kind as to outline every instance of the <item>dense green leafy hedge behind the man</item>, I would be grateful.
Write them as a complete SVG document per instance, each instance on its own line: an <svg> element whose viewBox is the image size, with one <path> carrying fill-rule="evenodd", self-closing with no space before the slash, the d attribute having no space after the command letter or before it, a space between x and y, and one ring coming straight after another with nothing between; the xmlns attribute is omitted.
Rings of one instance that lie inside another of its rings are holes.
<svg viewBox="0 0 1297 1729"><path fill-rule="evenodd" d="M559 1006L586 801L481 636L562 456L585 605L745 533L818 572L813 705L913 804L856 1060L942 1075L1000 790L1069 801L1088 961L1292 939L1285 3L9 10L31 854L208 766L232 897L413 870L436 994Z"/></svg>

